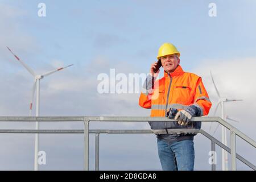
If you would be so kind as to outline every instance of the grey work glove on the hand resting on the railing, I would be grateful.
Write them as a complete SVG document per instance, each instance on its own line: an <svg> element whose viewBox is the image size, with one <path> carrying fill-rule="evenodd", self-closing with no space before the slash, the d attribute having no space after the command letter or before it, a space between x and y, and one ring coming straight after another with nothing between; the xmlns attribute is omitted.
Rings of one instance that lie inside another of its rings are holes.
<svg viewBox="0 0 256 182"><path fill-rule="evenodd" d="M188 106L185 110L180 110L175 115L175 120L178 121L178 124L181 126L187 126L191 121L191 118L197 115L200 115L201 112L195 105Z"/></svg>

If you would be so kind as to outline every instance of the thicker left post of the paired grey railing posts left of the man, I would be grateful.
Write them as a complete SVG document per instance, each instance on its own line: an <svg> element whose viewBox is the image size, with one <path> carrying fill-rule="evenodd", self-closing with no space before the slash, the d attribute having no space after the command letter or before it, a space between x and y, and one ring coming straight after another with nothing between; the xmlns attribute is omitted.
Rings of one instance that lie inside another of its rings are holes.
<svg viewBox="0 0 256 182"><path fill-rule="evenodd" d="M84 120L84 170L89 170L89 121Z"/></svg>

